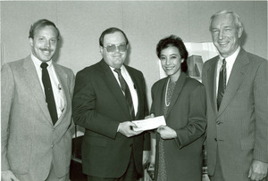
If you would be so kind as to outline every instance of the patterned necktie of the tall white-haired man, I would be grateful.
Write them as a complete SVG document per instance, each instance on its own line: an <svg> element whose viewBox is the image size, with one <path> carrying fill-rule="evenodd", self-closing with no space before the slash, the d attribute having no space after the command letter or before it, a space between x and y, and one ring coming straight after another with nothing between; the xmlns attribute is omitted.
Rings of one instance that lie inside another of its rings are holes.
<svg viewBox="0 0 268 181"><path fill-rule="evenodd" d="M226 88L226 61L225 59L223 59L222 68L220 70L220 76L219 76L219 86L218 86L218 97L217 97L218 110L222 102L222 97L224 95L225 88Z"/></svg>

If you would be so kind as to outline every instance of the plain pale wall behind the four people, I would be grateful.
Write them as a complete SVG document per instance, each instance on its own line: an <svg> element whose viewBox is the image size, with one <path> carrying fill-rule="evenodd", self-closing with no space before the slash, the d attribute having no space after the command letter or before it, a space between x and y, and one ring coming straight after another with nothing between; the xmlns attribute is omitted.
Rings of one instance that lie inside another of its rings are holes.
<svg viewBox="0 0 268 181"><path fill-rule="evenodd" d="M1 62L30 53L29 27L46 18L62 34L58 63L74 73L101 59L98 38L110 27L130 39L129 65L141 70L150 88L159 78L155 46L175 34L184 42L208 42L209 19L222 9L237 12L244 22L243 47L267 59L266 1L22 1L1 4Z"/></svg>

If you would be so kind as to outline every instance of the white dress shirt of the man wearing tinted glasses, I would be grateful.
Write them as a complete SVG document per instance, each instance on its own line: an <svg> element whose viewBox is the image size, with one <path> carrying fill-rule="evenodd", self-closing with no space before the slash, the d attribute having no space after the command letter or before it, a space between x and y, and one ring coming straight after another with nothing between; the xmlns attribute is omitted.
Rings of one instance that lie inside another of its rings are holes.
<svg viewBox="0 0 268 181"><path fill-rule="evenodd" d="M113 72L114 77L116 78L119 86L121 86L119 78L118 78L118 74L113 71L114 68L110 66L110 69ZM137 114L138 111L138 95L137 95L137 90L136 90L136 86L134 85L132 79L130 78L130 74L128 72L128 70L126 70L126 68L124 67L124 65L121 66L121 76L125 79L125 81L127 82L129 88L130 88L130 94L132 97L132 103L133 103L133 107L134 107L134 111L135 111L135 115ZM122 93L124 94L124 92L122 91Z"/></svg>

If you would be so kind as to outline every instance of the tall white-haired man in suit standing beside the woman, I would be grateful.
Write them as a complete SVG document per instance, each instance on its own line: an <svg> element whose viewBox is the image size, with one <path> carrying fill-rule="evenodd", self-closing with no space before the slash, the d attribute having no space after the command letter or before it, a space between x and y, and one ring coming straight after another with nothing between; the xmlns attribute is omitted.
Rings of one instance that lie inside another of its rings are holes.
<svg viewBox="0 0 268 181"><path fill-rule="evenodd" d="M266 180L268 168L267 60L240 47L239 16L221 11L210 31L220 55L205 62L207 169L211 180Z"/></svg>

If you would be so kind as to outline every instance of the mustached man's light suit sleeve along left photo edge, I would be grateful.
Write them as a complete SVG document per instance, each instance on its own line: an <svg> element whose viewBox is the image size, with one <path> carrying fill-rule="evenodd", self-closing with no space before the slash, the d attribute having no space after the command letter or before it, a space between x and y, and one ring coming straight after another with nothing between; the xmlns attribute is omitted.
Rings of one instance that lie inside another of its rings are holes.
<svg viewBox="0 0 268 181"><path fill-rule="evenodd" d="M13 72L8 64L1 71L1 170L10 169L7 159L10 113L14 96Z"/></svg>

